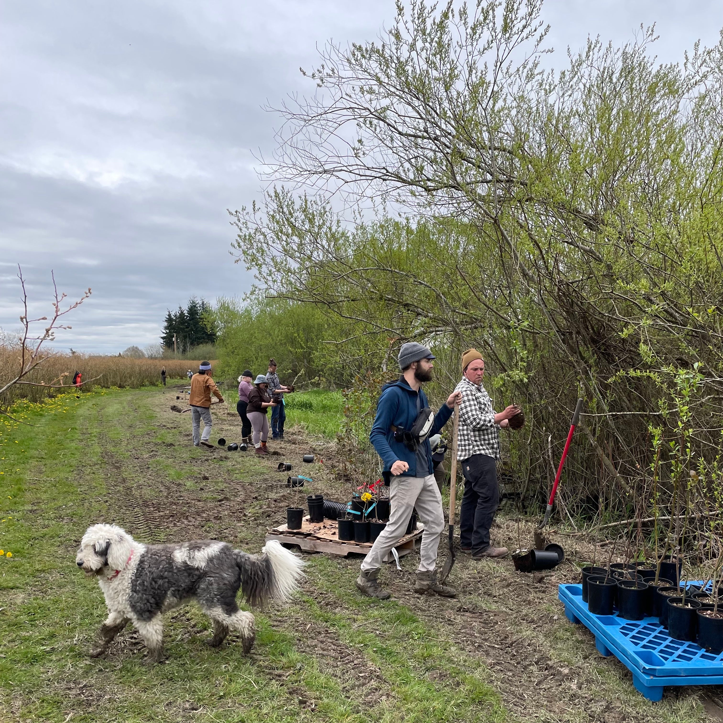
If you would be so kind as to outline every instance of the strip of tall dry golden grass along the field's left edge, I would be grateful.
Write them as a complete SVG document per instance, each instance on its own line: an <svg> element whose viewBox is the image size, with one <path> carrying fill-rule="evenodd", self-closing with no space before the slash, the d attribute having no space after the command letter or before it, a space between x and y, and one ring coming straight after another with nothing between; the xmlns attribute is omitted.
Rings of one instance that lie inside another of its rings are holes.
<svg viewBox="0 0 723 723"><path fill-rule="evenodd" d="M85 354L55 354L49 356L23 378L34 384L18 384L0 399L0 405L17 399L41 401L59 392L50 385L71 385L75 372L81 372L83 388L94 386L137 388L161 383L161 367L166 367L168 379L185 379L187 369L196 372L200 361L189 359L127 359L122 356L90 356ZM20 369L20 348L0 345L0 388L17 376ZM35 385L46 386L35 386Z"/></svg>

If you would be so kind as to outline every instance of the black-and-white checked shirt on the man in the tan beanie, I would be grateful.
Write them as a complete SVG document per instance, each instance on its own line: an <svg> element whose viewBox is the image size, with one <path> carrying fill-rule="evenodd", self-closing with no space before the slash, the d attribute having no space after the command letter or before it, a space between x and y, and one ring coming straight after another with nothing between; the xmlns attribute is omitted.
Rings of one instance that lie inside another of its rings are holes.
<svg viewBox="0 0 723 723"><path fill-rule="evenodd" d="M495 422L495 410L487 390L482 385L474 385L467 377L462 377L455 391L462 393L457 459L463 460L473 454L499 459L500 425Z"/></svg>

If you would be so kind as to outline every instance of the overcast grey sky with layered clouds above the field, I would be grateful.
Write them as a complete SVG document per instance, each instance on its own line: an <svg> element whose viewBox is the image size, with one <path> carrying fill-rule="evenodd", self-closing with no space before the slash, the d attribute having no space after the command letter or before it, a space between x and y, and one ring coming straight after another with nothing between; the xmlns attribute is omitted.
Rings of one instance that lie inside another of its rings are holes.
<svg viewBox="0 0 723 723"><path fill-rule="evenodd" d="M241 295L226 208L260 198L254 155L312 93L317 43L372 39L392 0L0 0L0 327L18 328L17 264L33 301L51 269L72 315L58 348L158 341L166 309ZM655 22L661 61L713 45L722 0L547 0L555 67L588 35L622 43ZM38 311L47 311L34 305Z"/></svg>

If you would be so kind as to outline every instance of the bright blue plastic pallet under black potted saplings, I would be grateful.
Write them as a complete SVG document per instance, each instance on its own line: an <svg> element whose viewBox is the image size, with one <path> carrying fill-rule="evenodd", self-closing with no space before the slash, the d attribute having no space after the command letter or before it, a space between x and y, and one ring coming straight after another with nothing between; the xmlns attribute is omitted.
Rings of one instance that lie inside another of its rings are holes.
<svg viewBox="0 0 723 723"><path fill-rule="evenodd" d="M585 625L600 654L615 655L649 701L659 701L666 685L723 685L723 653L671 638L657 617L593 615L583 602L582 585L560 585L557 596L565 604L565 617Z"/></svg>

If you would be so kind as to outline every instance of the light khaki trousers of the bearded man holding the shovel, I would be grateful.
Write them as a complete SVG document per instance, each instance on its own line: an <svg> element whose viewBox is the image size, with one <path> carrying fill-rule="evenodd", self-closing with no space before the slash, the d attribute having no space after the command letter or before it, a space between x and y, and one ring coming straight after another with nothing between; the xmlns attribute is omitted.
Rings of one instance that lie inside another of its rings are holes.
<svg viewBox="0 0 723 723"><path fill-rule="evenodd" d="M382 566L382 560L404 536L412 510L416 507L419 520L424 523L422 547L419 549L419 572L431 572L437 565L437 548L445 529L442 495L435 476L429 474L426 477L392 477L389 501L389 522L361 562L361 569L377 570Z"/></svg>

